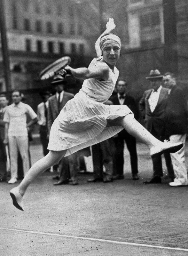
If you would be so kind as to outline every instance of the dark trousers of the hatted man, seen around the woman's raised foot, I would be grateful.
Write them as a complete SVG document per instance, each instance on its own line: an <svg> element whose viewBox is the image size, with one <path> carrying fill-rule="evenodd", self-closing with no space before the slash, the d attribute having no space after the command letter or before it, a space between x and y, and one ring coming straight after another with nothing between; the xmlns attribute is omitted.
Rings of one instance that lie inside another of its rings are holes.
<svg viewBox="0 0 188 256"><path fill-rule="evenodd" d="M156 132L154 129L152 129L151 134L157 138L158 140L163 141L163 136ZM164 158L167 166L168 176L169 178L174 178L174 169L172 165L172 160L170 157L170 153L164 153ZM153 176L162 177L162 158L160 156L152 156L152 163L153 163Z"/></svg>

